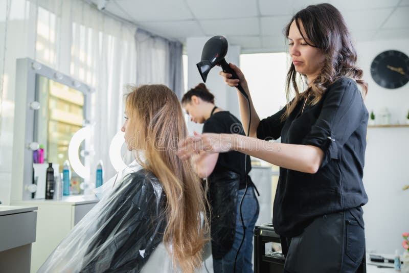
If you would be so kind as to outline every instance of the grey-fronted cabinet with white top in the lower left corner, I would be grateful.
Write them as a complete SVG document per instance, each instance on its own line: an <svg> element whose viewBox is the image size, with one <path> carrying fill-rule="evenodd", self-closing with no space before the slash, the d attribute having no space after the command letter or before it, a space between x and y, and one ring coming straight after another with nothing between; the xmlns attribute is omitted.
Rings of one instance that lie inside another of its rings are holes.
<svg viewBox="0 0 409 273"><path fill-rule="evenodd" d="M0 271L29 272L36 207L0 206Z"/></svg>

